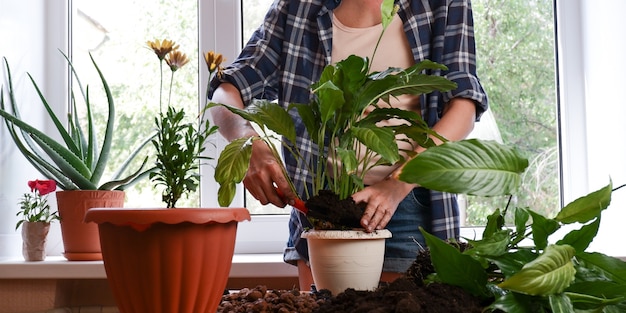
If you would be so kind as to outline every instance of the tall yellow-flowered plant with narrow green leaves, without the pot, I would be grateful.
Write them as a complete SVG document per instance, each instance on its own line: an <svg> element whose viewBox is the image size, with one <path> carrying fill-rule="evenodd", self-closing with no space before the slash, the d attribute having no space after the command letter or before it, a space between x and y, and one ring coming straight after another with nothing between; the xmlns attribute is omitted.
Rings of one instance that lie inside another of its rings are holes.
<svg viewBox="0 0 626 313"><path fill-rule="evenodd" d="M207 139L217 131L217 126L211 126L208 119L195 122L186 121L184 109L176 109L171 105L172 81L174 73L189 61L178 46L170 40L149 41L148 45L157 55L160 62L161 81L163 80L163 61L171 70L171 79L167 110L159 112L154 119L156 137L152 139L152 145L156 150L156 163L150 173L150 179L157 186L163 186L163 202L168 208L175 208L176 202L184 195L198 189L200 175L199 160L210 159L203 156ZM218 73L222 56L214 52L205 55L205 61L209 74ZM209 75L209 76L210 76ZM163 84L161 83L161 93ZM162 108L161 98L160 107Z"/></svg>

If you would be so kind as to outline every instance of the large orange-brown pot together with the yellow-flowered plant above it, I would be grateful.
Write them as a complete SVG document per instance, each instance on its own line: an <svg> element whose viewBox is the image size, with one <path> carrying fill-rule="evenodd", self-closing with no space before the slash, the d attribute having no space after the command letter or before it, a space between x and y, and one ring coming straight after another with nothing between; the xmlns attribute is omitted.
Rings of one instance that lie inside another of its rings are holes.
<svg viewBox="0 0 626 313"><path fill-rule="evenodd" d="M148 45L172 76L188 62L170 40ZM221 55L209 52L205 61L210 74L219 72ZM94 208L85 220L98 224L104 267L121 312L215 312L230 273L237 225L250 214L245 208L175 208L182 195L197 190L199 160L207 159L202 153L217 128L202 116L200 123L186 121L184 110L169 100L155 127L150 178L164 187L166 208Z"/></svg>

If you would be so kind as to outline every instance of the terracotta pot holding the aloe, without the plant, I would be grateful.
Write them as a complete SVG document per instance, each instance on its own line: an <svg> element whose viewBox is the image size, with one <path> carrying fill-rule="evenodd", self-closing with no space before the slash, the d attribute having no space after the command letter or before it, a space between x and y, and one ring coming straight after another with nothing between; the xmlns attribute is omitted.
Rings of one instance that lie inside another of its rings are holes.
<svg viewBox="0 0 626 313"><path fill-rule="evenodd" d="M124 206L124 192L119 190L57 191L57 209L61 218L63 256L70 261L102 260L98 226L85 223L90 208Z"/></svg>

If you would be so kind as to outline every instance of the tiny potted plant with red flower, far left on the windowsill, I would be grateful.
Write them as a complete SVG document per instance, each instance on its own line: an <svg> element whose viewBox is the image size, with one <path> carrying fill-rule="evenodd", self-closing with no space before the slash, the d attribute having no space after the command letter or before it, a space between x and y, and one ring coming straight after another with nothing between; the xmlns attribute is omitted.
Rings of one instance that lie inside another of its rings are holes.
<svg viewBox="0 0 626 313"><path fill-rule="evenodd" d="M22 226L22 255L26 261L46 259L46 239L50 231L50 222L59 219L58 213L50 211L48 194L56 190L54 180L28 181L30 193L20 199L17 216L21 219L15 230Z"/></svg>

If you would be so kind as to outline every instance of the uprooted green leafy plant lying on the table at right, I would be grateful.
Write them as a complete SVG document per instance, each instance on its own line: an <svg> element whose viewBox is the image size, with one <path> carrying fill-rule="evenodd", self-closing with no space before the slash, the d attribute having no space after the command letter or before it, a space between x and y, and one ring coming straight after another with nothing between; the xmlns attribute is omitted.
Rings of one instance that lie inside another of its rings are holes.
<svg viewBox="0 0 626 313"><path fill-rule="evenodd" d="M445 181L441 179L442 190L447 189ZM553 218L529 208L497 209L488 217L482 238L466 238L464 249L422 230L436 271L429 280L462 287L490 303L489 310L623 312L626 262L585 251L615 189L609 184L581 197ZM510 225L505 224L507 216ZM580 227L557 233L575 225Z"/></svg>

